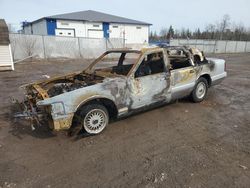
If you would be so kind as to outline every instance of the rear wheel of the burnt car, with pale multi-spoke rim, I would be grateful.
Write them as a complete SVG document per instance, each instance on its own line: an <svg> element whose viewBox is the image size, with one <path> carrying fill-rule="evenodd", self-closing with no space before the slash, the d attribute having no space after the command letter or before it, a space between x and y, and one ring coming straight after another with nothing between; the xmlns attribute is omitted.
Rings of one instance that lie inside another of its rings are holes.
<svg viewBox="0 0 250 188"><path fill-rule="evenodd" d="M194 90L191 93L191 99L195 103L203 101L207 96L208 82L205 78L201 77L198 79Z"/></svg>

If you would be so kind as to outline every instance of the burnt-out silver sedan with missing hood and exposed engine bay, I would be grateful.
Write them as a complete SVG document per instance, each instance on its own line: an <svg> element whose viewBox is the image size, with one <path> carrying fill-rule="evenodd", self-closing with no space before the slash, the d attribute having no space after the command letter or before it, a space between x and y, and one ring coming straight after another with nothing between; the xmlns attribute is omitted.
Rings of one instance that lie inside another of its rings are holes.
<svg viewBox="0 0 250 188"><path fill-rule="evenodd" d="M22 115L52 130L98 134L111 118L185 96L201 102L226 76L224 60L194 48L110 50L83 71L24 86Z"/></svg>

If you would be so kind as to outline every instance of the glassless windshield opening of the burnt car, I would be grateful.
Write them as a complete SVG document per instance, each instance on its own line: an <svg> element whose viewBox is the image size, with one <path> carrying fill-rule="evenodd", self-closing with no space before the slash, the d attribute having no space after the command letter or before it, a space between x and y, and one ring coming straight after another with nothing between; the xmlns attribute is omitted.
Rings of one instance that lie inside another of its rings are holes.
<svg viewBox="0 0 250 188"><path fill-rule="evenodd" d="M133 65L137 62L141 53L109 52L101 60L90 66L91 72L105 72L110 74L127 76Z"/></svg>

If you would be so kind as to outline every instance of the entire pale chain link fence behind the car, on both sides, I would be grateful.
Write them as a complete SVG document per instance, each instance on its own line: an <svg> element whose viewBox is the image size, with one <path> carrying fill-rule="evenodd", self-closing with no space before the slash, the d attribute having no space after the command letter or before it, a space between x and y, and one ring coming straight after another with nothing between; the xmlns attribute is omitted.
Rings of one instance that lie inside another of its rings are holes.
<svg viewBox="0 0 250 188"><path fill-rule="evenodd" d="M42 59L91 59L98 57L108 49L123 47L140 49L145 46L145 44L125 45L125 41L122 38L96 39L24 34L10 34L10 41L14 60L33 56ZM174 39L170 41L170 45L193 46L199 48L205 53L250 52L250 42L247 41Z"/></svg>

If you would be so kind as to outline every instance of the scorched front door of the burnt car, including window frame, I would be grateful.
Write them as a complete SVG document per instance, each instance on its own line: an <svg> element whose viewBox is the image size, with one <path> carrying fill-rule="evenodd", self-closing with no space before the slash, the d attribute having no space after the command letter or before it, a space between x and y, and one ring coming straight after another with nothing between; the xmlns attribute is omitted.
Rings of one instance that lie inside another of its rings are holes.
<svg viewBox="0 0 250 188"><path fill-rule="evenodd" d="M131 108L170 100L170 74L163 51L147 53L130 77Z"/></svg>

